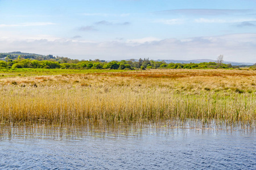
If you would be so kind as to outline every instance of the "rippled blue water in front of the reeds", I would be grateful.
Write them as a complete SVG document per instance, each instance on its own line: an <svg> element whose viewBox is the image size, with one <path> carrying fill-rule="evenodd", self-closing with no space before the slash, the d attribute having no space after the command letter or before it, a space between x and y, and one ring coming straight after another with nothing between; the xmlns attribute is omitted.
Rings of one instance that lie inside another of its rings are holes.
<svg viewBox="0 0 256 170"><path fill-rule="evenodd" d="M256 169L255 128L2 125L0 169Z"/></svg>

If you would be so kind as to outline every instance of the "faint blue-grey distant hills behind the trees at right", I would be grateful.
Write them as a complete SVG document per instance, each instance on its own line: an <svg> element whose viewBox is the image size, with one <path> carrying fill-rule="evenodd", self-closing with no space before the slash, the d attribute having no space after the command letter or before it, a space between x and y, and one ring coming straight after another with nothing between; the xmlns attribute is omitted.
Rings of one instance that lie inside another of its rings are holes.
<svg viewBox="0 0 256 170"><path fill-rule="evenodd" d="M126 59L126 61L129 61L130 59ZM132 59L134 61L139 61L138 59ZM157 59L155 61L165 61L166 63L201 63L201 62L216 62L216 60L213 59L192 59L192 60L175 60L175 59ZM254 63L251 62L234 62L234 61L224 61L225 64L231 64L232 66L251 66L254 65Z"/></svg>

